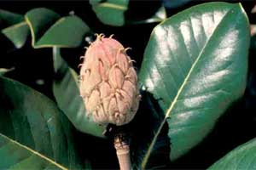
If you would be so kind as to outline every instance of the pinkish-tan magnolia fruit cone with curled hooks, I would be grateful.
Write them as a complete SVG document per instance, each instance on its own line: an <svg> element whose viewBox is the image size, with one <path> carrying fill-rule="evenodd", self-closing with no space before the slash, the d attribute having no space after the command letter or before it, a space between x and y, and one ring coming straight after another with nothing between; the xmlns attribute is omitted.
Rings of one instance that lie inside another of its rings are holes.
<svg viewBox="0 0 256 170"><path fill-rule="evenodd" d="M137 73L126 50L112 37L100 34L83 56L80 94L87 116L99 124L124 125L137 112Z"/></svg>

